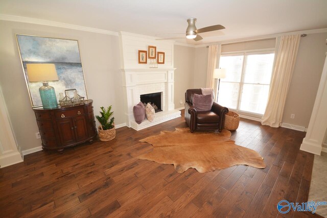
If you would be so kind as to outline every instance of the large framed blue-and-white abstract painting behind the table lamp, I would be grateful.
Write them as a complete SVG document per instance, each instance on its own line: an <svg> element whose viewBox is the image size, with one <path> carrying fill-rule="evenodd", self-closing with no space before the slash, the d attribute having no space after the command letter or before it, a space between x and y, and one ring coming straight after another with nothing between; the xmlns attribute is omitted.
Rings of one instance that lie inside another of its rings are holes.
<svg viewBox="0 0 327 218"><path fill-rule="evenodd" d="M56 65L59 80L49 81L49 85L55 88L58 101L60 92L64 93L66 89L73 88L79 95L87 98L77 40L18 34L16 37L32 107L42 106L38 90L42 86L42 82L29 82L26 69L28 63L53 63Z"/></svg>

